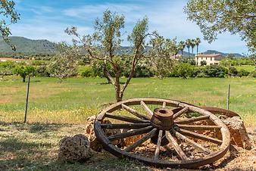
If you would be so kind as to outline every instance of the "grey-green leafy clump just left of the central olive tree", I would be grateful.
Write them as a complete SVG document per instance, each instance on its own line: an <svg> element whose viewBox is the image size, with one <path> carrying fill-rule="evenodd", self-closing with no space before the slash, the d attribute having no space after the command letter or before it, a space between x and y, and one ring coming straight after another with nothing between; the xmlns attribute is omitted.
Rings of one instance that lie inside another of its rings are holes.
<svg viewBox="0 0 256 171"><path fill-rule="evenodd" d="M57 77L61 81L77 74L77 58L79 48L76 45L68 46L66 43L58 45L58 52L52 58L48 66L50 76Z"/></svg>

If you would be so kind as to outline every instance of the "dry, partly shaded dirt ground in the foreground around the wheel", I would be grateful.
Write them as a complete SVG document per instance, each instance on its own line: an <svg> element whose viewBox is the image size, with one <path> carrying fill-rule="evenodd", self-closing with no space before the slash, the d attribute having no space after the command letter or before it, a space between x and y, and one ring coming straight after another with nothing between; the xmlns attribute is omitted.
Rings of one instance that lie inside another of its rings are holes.
<svg viewBox="0 0 256 171"><path fill-rule="evenodd" d="M84 163L58 162L58 141L84 132L84 125L23 124L0 122L0 170L193 170L155 168L132 160L119 159L108 152L93 152ZM250 151L231 146L225 157L199 170L256 171L256 130L247 128ZM198 170L194 169L194 170Z"/></svg>

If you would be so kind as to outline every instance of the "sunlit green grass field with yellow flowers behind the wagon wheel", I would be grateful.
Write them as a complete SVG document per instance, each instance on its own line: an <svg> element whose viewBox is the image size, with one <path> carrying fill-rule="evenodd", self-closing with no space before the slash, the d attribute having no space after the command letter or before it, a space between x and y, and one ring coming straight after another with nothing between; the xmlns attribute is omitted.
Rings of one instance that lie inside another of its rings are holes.
<svg viewBox="0 0 256 171"><path fill-rule="evenodd" d="M231 85L230 110L251 125L256 123L256 81L252 78L136 78L126 89L128 98L170 98L195 105L226 108L227 85ZM22 122L27 83L19 77L0 82L0 121ZM31 79L29 123L84 123L106 104L113 103L114 88L101 78Z"/></svg>

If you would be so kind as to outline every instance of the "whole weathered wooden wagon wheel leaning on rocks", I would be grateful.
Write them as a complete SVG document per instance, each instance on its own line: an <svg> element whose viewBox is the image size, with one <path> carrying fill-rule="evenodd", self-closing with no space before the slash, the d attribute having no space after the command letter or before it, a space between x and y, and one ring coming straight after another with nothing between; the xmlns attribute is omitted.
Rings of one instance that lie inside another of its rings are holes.
<svg viewBox="0 0 256 171"><path fill-rule="evenodd" d="M124 111L130 116L120 114ZM183 113L187 112L195 113L194 117L186 118ZM109 119L115 122L102 122ZM94 129L98 141L111 154L161 167L195 168L213 163L226 154L230 143L229 130L214 114L160 98L134 98L112 104L98 114ZM107 136L107 129L126 131ZM130 145L114 143L136 135L139 138Z"/></svg>

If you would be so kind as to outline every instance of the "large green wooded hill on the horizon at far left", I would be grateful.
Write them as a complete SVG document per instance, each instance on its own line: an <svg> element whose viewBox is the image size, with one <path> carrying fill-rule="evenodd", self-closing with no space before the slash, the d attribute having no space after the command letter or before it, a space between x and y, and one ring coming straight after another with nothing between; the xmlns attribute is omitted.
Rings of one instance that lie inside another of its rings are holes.
<svg viewBox="0 0 256 171"><path fill-rule="evenodd" d="M16 45L16 51L12 51L11 47L0 39L0 53L45 53L49 54L55 51L55 43L46 39L32 40L24 37L11 36L9 37L11 44Z"/></svg>

